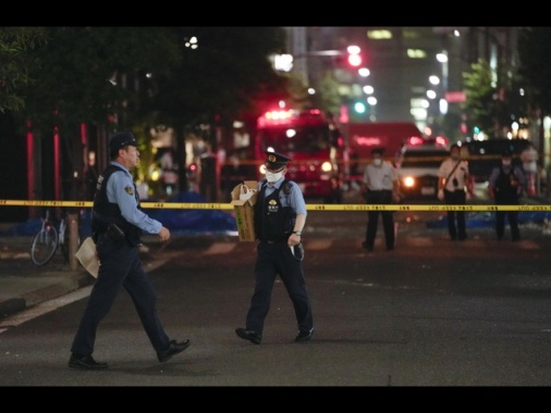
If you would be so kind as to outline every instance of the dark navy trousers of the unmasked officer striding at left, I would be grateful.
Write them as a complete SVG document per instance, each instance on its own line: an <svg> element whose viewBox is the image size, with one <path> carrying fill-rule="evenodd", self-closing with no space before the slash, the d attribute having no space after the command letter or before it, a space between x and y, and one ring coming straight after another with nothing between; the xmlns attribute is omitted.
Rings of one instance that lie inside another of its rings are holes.
<svg viewBox="0 0 551 413"><path fill-rule="evenodd" d="M121 286L131 296L154 349L166 350L170 346L170 338L159 320L157 295L142 267L138 247L131 246L126 240L117 243L106 235L100 235L96 249L100 261L98 278L88 298L71 351L79 355L94 352L98 325L109 313Z"/></svg>

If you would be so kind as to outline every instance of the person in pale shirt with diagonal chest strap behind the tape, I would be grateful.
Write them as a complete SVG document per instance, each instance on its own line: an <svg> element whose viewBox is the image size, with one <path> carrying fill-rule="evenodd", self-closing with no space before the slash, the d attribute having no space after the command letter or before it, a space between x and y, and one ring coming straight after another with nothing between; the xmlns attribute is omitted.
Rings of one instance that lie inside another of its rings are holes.
<svg viewBox="0 0 551 413"><path fill-rule="evenodd" d="M473 195L473 183L467 162L461 159L461 147L450 147L450 158L442 161L438 172L438 199L449 205L465 205L467 193ZM467 239L465 211L448 211L448 233L451 240Z"/></svg>

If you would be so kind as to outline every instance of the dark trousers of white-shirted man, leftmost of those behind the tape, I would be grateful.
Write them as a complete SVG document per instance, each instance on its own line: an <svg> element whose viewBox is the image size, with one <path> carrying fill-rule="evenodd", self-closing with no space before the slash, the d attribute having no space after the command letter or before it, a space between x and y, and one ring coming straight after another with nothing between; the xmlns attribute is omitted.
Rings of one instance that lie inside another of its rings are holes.
<svg viewBox="0 0 551 413"><path fill-rule="evenodd" d="M366 202L374 205L391 204L392 191L370 190L367 193ZM392 211L369 211L367 213L366 247L369 250L374 249L375 238L377 237L377 227L379 225L379 214L382 218L382 229L384 230L387 249L392 250L394 248L394 215Z"/></svg>

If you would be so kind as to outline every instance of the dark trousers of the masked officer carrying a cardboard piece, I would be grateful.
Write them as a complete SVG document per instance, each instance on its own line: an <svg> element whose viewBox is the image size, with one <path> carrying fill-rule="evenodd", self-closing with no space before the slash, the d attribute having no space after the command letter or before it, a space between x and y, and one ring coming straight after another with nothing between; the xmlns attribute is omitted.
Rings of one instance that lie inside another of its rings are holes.
<svg viewBox="0 0 551 413"><path fill-rule="evenodd" d="M246 317L246 329L262 336L264 324L270 310L276 277L280 276L293 303L298 330L314 328L310 299L304 279L303 264L294 258L286 241L260 241L255 264L255 292Z"/></svg>

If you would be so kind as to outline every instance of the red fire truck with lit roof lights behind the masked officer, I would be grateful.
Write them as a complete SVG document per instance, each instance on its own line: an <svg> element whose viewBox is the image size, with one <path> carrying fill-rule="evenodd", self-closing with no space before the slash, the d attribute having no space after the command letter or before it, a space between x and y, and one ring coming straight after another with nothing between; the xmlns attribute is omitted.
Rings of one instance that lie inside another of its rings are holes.
<svg viewBox="0 0 551 413"><path fill-rule="evenodd" d="M281 152L293 161L285 177L297 183L305 198L342 201L344 139L333 120L318 109L274 110L258 118L255 158ZM258 176L264 175L264 165Z"/></svg>

